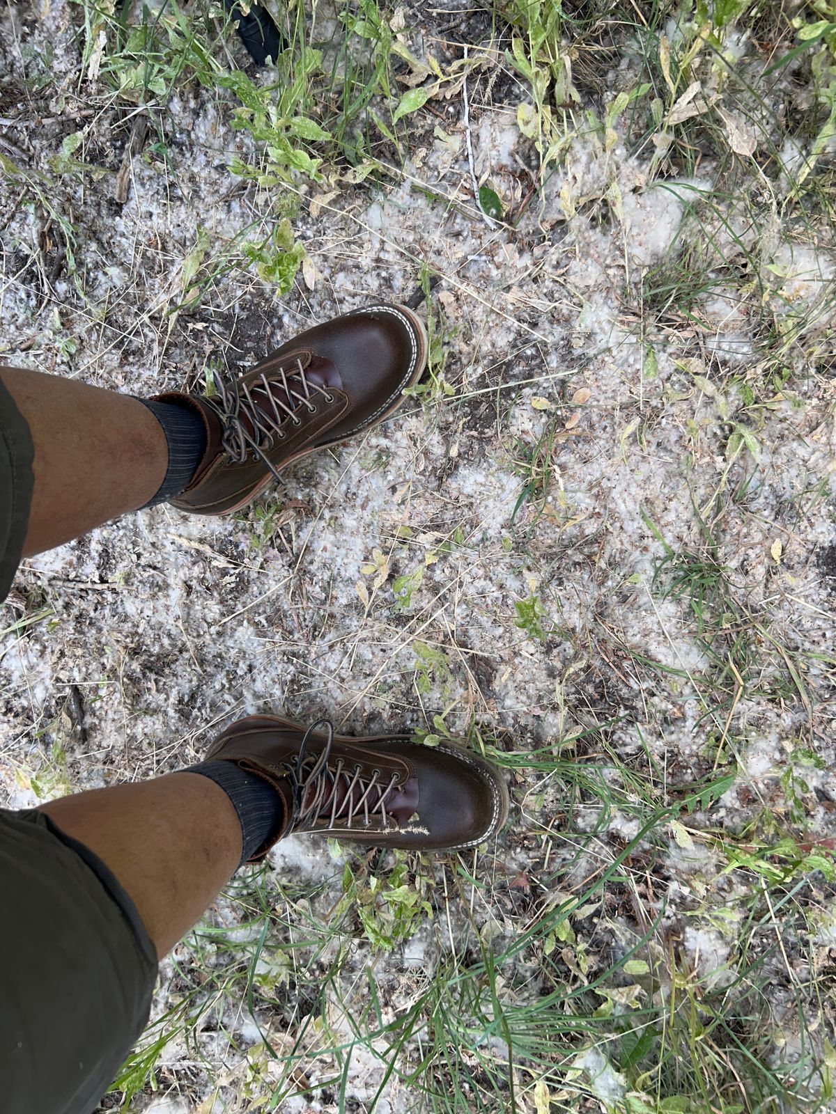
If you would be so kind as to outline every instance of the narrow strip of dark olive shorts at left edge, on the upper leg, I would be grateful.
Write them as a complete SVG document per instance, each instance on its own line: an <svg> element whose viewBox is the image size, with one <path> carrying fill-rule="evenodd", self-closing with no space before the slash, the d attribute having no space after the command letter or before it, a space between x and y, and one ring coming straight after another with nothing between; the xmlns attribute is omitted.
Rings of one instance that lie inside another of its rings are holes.
<svg viewBox="0 0 836 1114"><path fill-rule="evenodd" d="M32 501L32 455L29 427L0 379L0 600L9 594L23 551Z"/></svg>

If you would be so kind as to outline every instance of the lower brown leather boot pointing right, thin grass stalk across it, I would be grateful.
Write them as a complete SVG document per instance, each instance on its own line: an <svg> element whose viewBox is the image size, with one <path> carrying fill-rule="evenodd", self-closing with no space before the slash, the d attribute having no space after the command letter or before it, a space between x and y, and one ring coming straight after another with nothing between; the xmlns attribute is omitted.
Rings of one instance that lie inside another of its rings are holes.
<svg viewBox="0 0 836 1114"><path fill-rule="evenodd" d="M264 778L284 802L281 831L251 862L291 832L368 847L460 851L492 839L508 815L499 771L454 743L419 746L406 735L350 739L334 735L327 720L305 731L279 716L251 715L231 724L206 758Z"/></svg>

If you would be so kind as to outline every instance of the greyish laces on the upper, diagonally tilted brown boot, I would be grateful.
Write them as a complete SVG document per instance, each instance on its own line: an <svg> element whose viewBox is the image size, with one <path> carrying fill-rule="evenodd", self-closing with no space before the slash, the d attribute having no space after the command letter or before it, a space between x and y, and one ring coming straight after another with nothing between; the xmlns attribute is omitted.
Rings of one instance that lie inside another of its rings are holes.
<svg viewBox="0 0 836 1114"><path fill-rule="evenodd" d="M315 413L312 400L318 395L333 402L333 394L324 387L310 382L300 359L290 372L286 368L276 368L271 370L269 377L263 373L250 383L241 383L237 379L225 382L214 370L212 378L216 393L205 402L221 419L222 447L239 465L246 460L249 452L254 453L276 479L279 473L266 452L274 447L276 439L281 441L286 437L282 429L284 423L290 420L293 426L301 426L297 411L305 407L310 413ZM257 398L254 391L259 392Z"/></svg>

